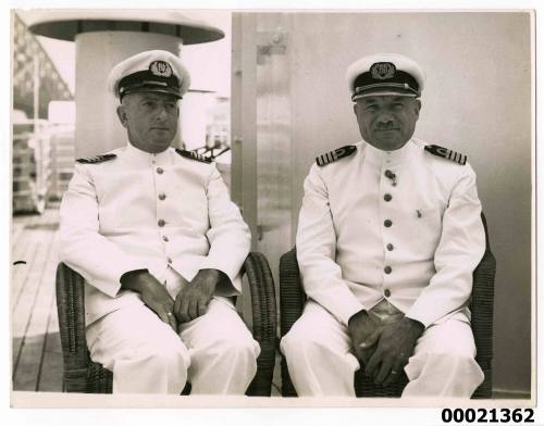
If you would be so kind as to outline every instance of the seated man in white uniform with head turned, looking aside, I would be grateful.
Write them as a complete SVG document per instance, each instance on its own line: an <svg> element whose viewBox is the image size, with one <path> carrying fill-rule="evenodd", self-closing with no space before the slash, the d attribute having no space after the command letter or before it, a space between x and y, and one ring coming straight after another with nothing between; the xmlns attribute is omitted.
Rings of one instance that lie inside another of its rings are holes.
<svg viewBox="0 0 544 426"><path fill-rule="evenodd" d="M170 147L189 74L154 50L108 84L127 143L77 160L59 231L60 260L87 281L90 358L113 392L244 394L260 348L232 296L250 233L215 165Z"/></svg>

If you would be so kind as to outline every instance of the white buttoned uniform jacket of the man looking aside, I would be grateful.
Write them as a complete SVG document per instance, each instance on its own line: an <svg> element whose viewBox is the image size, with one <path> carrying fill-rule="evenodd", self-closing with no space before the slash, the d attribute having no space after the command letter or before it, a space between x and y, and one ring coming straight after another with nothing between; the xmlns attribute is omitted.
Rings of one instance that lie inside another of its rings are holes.
<svg viewBox="0 0 544 426"><path fill-rule="evenodd" d="M111 153L112 160L76 163L60 210L60 261L88 283L87 325L141 303L121 290L121 276L133 270L148 268L163 283L169 266L189 281L215 268L232 283L217 293L237 293L250 233L215 165L173 148L150 154L128 143Z"/></svg>

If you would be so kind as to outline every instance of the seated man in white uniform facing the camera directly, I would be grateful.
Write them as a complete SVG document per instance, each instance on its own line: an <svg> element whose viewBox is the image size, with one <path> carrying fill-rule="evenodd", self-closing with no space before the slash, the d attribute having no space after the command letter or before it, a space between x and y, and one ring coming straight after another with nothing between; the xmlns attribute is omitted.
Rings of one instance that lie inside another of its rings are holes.
<svg viewBox="0 0 544 426"><path fill-rule="evenodd" d="M403 397L469 398L483 380L469 298L485 251L465 155L412 138L424 74L375 54L347 72L362 141L320 155L296 237L308 302L282 340L299 396L355 396L354 373Z"/></svg>

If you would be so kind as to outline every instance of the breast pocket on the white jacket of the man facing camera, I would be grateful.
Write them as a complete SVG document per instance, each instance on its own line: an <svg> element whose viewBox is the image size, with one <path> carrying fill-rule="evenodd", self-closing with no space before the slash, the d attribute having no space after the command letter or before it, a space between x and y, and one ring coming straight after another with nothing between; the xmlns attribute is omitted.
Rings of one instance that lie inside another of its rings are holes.
<svg viewBox="0 0 544 426"><path fill-rule="evenodd" d="M399 212L399 233L415 260L434 256L442 236L441 208L420 208Z"/></svg>

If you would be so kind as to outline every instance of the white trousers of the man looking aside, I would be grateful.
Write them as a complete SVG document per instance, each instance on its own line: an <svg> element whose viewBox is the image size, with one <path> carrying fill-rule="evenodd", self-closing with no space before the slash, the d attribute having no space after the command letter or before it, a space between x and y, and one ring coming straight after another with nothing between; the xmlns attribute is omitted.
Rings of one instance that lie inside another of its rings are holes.
<svg viewBox="0 0 544 426"><path fill-rule="evenodd" d="M185 280L170 274L175 297ZM176 334L146 305L111 312L87 327L92 361L113 372L113 393L244 394L260 347L232 302L214 297L205 315Z"/></svg>

